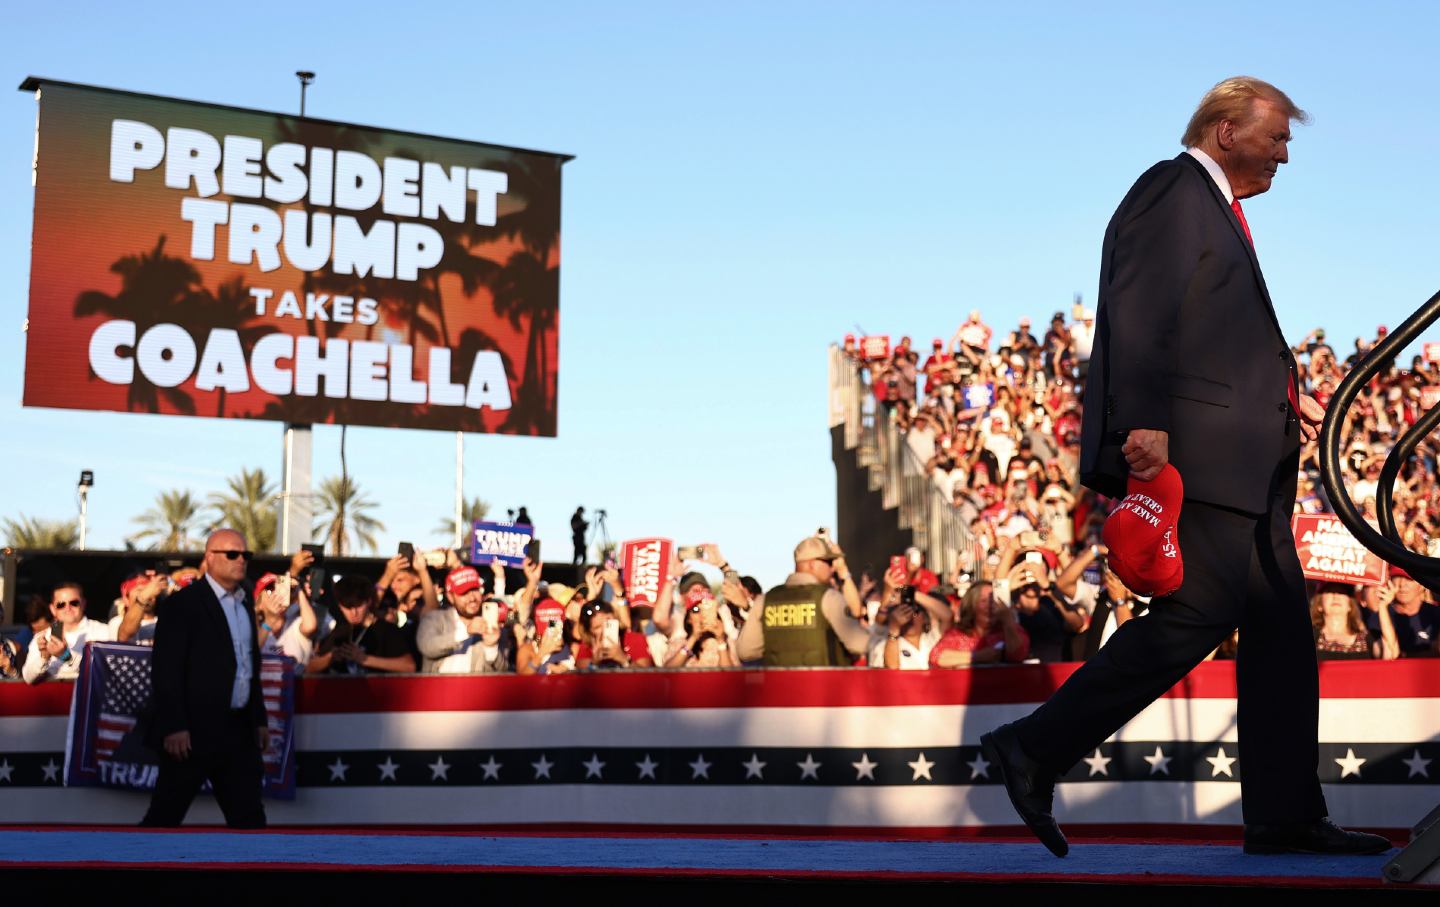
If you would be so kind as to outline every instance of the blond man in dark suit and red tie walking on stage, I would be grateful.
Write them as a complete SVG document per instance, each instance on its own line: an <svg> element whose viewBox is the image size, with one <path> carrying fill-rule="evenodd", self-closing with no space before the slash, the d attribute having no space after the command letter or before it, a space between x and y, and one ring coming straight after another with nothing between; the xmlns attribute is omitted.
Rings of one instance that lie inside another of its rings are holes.
<svg viewBox="0 0 1440 907"><path fill-rule="evenodd" d="M1240 206L1289 161L1280 89L1227 79L1185 153L1151 167L1104 233L1084 400L1081 481L1123 497L1174 464L1184 583L1129 621L1031 716L981 744L1017 812L1056 855L1056 779L1240 628L1236 665L1247 852L1377 854L1326 818L1319 680L1290 513L1302 439L1325 410L1300 396Z"/></svg>

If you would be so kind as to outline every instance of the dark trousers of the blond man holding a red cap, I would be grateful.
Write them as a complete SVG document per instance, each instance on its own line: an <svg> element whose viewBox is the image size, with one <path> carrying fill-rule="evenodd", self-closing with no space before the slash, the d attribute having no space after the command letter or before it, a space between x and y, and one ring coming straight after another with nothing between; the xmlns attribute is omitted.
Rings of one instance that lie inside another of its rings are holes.
<svg viewBox="0 0 1440 907"><path fill-rule="evenodd" d="M1063 775L1240 628L1236 664L1246 823L1326 815L1319 674L1290 514L1297 458L1276 471L1266 514L1185 501L1184 585L1128 621L1050 701L1017 723L1031 759ZM1289 482L1279 478L1289 472Z"/></svg>

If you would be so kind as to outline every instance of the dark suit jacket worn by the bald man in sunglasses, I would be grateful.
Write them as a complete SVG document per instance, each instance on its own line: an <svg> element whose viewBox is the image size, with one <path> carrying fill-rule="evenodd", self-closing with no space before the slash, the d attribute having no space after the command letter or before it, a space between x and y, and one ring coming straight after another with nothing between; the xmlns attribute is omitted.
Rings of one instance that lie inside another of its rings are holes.
<svg viewBox="0 0 1440 907"><path fill-rule="evenodd" d="M248 621L246 626L252 654L251 700L246 708L252 724L264 727L261 646L255 621ZM235 648L225 610L204 577L161 603L156 622L156 648L150 656L150 680L154 690L154 721L148 734L151 746L158 747L166 736L181 730L190 731L190 746L197 752L233 746L225 728L235 687Z"/></svg>

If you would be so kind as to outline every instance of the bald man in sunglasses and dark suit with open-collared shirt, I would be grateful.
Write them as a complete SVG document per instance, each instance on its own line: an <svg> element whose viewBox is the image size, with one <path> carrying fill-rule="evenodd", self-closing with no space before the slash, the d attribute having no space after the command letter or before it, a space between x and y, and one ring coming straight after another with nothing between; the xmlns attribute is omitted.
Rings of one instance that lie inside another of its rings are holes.
<svg viewBox="0 0 1440 907"><path fill-rule="evenodd" d="M204 543L204 576L160 608L148 741L163 749L141 825L173 828L209 780L230 828L265 828L261 754L266 744L261 649L240 580L252 553L235 530Z"/></svg>

